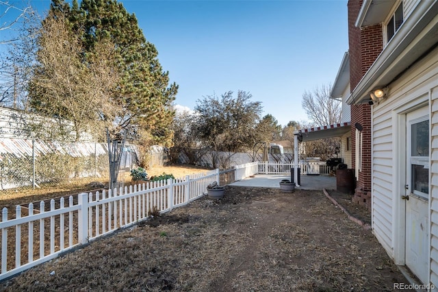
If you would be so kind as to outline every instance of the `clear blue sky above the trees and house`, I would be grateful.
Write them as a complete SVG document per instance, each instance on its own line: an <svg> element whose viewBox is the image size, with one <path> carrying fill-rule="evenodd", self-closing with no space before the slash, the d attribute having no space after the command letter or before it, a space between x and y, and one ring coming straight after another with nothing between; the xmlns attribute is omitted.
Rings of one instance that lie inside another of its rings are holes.
<svg viewBox="0 0 438 292"><path fill-rule="evenodd" d="M281 125L305 121L305 91L333 84L348 49L347 0L125 0L159 52L175 104L245 90ZM50 1L31 1L40 13Z"/></svg>

